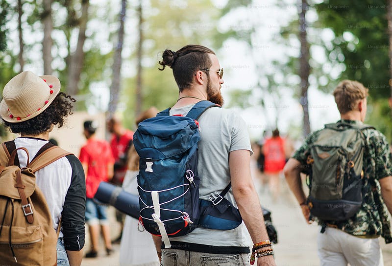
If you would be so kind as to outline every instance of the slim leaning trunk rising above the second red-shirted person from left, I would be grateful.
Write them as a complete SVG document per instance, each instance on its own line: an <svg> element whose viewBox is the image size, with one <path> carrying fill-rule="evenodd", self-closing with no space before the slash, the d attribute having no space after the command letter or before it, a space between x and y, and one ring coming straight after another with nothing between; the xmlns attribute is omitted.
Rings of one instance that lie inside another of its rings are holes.
<svg viewBox="0 0 392 266"><path fill-rule="evenodd" d="M121 65L124 41L124 20L126 12L126 0L121 1L120 11L120 28L119 28L119 41L114 52L113 62L113 74L112 74L112 85L110 86L110 101L108 107L108 117L112 117L117 110L119 104L120 90L121 90Z"/></svg>

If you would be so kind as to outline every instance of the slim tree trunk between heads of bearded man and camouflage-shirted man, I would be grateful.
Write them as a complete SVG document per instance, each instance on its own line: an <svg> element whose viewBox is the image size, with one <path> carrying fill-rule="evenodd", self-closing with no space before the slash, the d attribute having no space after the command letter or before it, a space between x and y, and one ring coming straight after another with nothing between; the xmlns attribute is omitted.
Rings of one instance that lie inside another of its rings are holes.
<svg viewBox="0 0 392 266"><path fill-rule="evenodd" d="M309 43L306 39L306 10L309 5L307 0L298 0L299 1L299 42L301 44L300 57L299 57L299 77L301 78L301 100L300 103L303 109L303 136L306 137L310 133L310 121L309 121L309 108L308 108L308 88L309 88Z"/></svg>

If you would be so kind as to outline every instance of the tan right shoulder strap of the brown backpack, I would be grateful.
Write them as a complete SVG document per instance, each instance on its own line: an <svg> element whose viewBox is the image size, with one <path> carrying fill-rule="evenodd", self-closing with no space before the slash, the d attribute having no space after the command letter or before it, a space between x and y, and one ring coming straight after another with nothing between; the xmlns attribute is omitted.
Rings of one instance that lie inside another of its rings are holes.
<svg viewBox="0 0 392 266"><path fill-rule="evenodd" d="M30 168L33 172L42 169L49 164L53 163L54 161L67 156L71 155L71 152L68 152L59 146L56 145L44 145L34 157L34 159L30 163Z"/></svg>

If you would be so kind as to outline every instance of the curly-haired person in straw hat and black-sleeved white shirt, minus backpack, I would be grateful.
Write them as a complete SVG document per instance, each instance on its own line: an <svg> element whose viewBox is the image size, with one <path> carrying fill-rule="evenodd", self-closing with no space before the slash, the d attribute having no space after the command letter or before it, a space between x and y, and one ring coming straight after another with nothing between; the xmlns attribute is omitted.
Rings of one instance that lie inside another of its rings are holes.
<svg viewBox="0 0 392 266"><path fill-rule="evenodd" d="M23 150L18 150L21 168L27 165L27 158L31 162L36 154L43 151L54 126L62 127L66 117L73 113L75 99L60 93L60 88L57 77L37 76L30 71L16 75L4 86L0 103L2 121L11 132L21 134L13 141L14 147L25 147L29 154L27 157ZM48 202L53 230L61 228L56 247L57 264L80 266L86 208L82 165L74 155L67 155L37 170L35 176L36 185Z"/></svg>

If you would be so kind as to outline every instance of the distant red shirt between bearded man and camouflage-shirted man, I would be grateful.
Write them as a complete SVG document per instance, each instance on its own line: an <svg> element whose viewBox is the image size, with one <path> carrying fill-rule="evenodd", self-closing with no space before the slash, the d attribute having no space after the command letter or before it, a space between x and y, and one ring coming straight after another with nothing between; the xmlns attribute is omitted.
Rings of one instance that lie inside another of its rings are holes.
<svg viewBox="0 0 392 266"><path fill-rule="evenodd" d="M265 157L264 172L280 172L286 163L284 140L281 137L270 138L263 145Z"/></svg>

